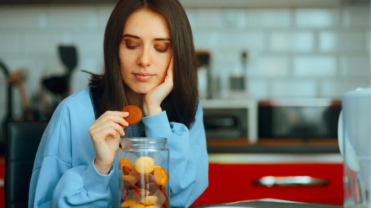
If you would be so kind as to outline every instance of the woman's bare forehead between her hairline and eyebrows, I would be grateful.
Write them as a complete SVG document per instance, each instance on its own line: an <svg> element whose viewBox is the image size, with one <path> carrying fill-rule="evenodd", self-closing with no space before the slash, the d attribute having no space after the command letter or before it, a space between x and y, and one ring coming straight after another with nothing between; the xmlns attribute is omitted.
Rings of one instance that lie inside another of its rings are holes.
<svg viewBox="0 0 371 208"><path fill-rule="evenodd" d="M126 21L124 34L140 38L170 38L170 30L164 17L148 10L131 14Z"/></svg>

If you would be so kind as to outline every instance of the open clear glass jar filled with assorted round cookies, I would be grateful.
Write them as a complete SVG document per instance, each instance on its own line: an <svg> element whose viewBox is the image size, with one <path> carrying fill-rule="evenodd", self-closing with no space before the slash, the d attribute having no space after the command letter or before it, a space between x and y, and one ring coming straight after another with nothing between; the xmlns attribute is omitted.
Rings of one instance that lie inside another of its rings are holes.
<svg viewBox="0 0 371 208"><path fill-rule="evenodd" d="M169 208L167 138L121 138L119 187L121 207Z"/></svg>

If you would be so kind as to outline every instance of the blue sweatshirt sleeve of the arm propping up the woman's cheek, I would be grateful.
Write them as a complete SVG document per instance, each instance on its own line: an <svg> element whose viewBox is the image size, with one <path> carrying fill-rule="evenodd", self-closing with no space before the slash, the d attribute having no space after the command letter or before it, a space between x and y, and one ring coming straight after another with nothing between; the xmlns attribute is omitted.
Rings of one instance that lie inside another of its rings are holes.
<svg viewBox="0 0 371 208"><path fill-rule="evenodd" d="M181 123L169 123L165 111L144 117L142 121L147 137L167 138L171 207L191 206L209 185L209 160L201 102L190 130Z"/></svg>

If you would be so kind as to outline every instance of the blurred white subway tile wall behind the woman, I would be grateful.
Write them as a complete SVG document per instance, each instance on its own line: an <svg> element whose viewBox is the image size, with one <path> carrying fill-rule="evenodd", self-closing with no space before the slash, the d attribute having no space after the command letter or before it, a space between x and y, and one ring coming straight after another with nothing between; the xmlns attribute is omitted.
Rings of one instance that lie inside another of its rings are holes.
<svg viewBox="0 0 371 208"><path fill-rule="evenodd" d="M103 39L114 5L0 7L0 58L11 71L28 70L26 90L39 76L65 70L58 44L78 46L73 92L103 68ZM370 8L186 9L197 49L211 53L212 74L241 73L248 52L247 87L256 99L339 98L370 85ZM0 75L0 118L6 81ZM15 89L16 113L21 112ZM3 93L4 92L4 93Z"/></svg>

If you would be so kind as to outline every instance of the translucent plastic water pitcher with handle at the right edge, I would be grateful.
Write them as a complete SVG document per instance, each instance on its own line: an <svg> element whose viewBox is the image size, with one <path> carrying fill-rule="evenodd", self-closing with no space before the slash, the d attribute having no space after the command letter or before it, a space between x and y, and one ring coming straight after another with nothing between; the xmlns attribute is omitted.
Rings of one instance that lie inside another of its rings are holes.
<svg viewBox="0 0 371 208"><path fill-rule="evenodd" d="M344 207L371 207L371 88L357 88L342 97L338 123L344 158Z"/></svg>

